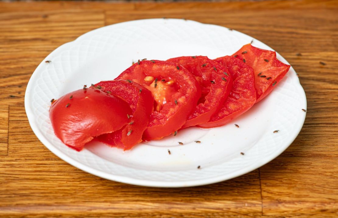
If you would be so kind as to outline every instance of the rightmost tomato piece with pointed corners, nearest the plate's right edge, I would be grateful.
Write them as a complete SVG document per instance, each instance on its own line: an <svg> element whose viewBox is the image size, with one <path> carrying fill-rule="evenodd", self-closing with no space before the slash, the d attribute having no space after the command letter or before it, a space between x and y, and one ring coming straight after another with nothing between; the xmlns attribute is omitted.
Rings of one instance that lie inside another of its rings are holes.
<svg viewBox="0 0 338 218"><path fill-rule="evenodd" d="M254 69L256 102L267 96L291 67L280 62L275 51L256 48L251 44L244 45L233 56L241 59Z"/></svg>

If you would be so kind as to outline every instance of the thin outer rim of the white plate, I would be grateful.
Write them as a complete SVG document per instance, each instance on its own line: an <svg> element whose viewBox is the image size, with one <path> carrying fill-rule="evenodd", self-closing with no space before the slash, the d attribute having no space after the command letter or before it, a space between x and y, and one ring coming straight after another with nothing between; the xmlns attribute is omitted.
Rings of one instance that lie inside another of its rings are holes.
<svg viewBox="0 0 338 218"><path fill-rule="evenodd" d="M88 31L88 32L80 35L75 40L67 42L67 43L65 43L65 44L57 47L50 54L48 54L43 60L45 60L47 57L53 55L54 53L58 52L59 50L62 50L64 48L66 48L67 46L72 46L76 42L79 42L84 35L90 34L93 31L97 31L99 29L108 28L108 27L111 27L113 25L123 25L125 23L131 23L131 22L140 22L140 21L148 21L148 20L162 20L162 19L163 18L154 18L154 19L140 19L140 20L125 21L125 22L116 23L116 24L112 24L112 25L107 25L107 26L103 26L103 27L100 27L100 28ZM214 24L200 23L200 22L193 21L193 20L182 20L182 19L171 19L171 18L169 18L169 19L166 18L166 20L181 20L181 21L184 21L184 22L189 21L189 22L196 22L196 23L199 23L199 24L202 24L202 25L212 25L212 26L227 28L227 27L224 27L224 26L219 26L219 25L214 25ZM233 31L236 31L236 30L233 30ZM239 31L236 31L236 32L238 32L240 34L243 34L243 35L247 35L245 33L239 32ZM247 35L247 36L249 36L249 35ZM251 37L251 36L249 36L249 37ZM265 43L263 43L263 42L255 39L253 37L251 37L251 38L254 39L257 42L260 42L260 43L264 44L265 46L267 46L271 50L273 50L270 46L266 45ZM289 62L284 57L282 57L279 53L276 52L276 54L279 55L282 58L282 60L283 60L284 63L289 64ZM32 87L33 80L34 80L35 77L38 76L37 72L43 67L43 63L44 63L44 61L42 61L39 64L39 66L32 73L32 75L31 75L31 77L30 77L30 79L28 81L28 84L27 84L27 87L26 87L26 92L25 92L25 104L24 104L25 105L25 111L26 111L28 122L29 122L29 125L30 125L32 131L37 136L37 138L42 142L42 144L44 144L44 146L46 146L52 153L54 153L56 156L58 156L59 158L61 158L65 162L67 162L67 163L71 164L72 166L74 166L74 167L76 167L78 169L81 169L81 170L83 170L83 171L85 171L87 173L90 173L90 174L93 174L93 175L96 175L96 176L99 176L99 177L102 177L102 178L105 178L105 179L108 179L108 180L118 181L118 182L121 182L121 183L126 183L126 184L131 184L131 185L137 185L137 186L147 186L147 187L176 188L176 187L192 187L192 186L208 185L208 184L218 183L218 182L221 182L221 181L225 181L225 180L228 180L228 179L232 179L232 178L241 176L243 174L246 174L248 172L251 172L251 171L253 171L255 169L260 168L261 166L269 163L270 161L272 161L273 159L275 159L277 156L279 156L281 153L283 153L292 144L292 142L296 139L296 137L298 136L301 128L304 125L304 121L305 121L305 117L306 117L306 113L304 113L303 119L299 121L299 127L297 128L297 131L295 131L295 134L292 135L292 137L288 138L289 140L287 141L287 143L285 143L285 146L281 146L279 149L277 149L272 154L270 154L268 156L268 158L265 159L264 161L252 164L249 167L243 167L243 168L241 168L241 170L238 170L238 171L227 173L227 174L224 174L224 175L221 175L221 176L209 177L209 178L206 178L206 179L192 179L192 180L187 180L187 181L155 181L155 180L130 178L128 176L114 175L114 174L111 174L111 173L107 173L107 172L104 172L104 171L97 170L97 169L95 169L93 167L89 167L89 166L84 165L81 162L79 162L79 161L71 158L66 153L62 152L61 150L58 150L52 143L50 143L42 135L39 127L37 126L37 124L36 124L36 122L34 120L34 114L32 112L32 108L29 105L29 100L30 100L29 98L31 97L29 94L30 94L30 90L31 90L31 87ZM292 66L290 67L290 69L293 69ZM305 103L304 107L305 107L305 109L307 109L306 94L305 94L305 91L304 91L303 87L300 84L299 79L298 79L297 86L298 85L300 86L301 91L302 91L299 94L303 95L304 101L305 101L304 102Z"/></svg>

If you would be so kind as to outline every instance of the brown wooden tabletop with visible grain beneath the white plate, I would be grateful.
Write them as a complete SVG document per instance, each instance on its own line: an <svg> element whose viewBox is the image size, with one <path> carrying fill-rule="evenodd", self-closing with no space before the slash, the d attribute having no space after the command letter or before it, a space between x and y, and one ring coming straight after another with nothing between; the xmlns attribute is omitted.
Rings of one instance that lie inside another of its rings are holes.
<svg viewBox="0 0 338 218"><path fill-rule="evenodd" d="M0 2L0 216L338 217L337 9L337 1L324 0ZM218 184L146 188L78 170L35 137L24 93L45 56L92 29L161 17L239 30L289 61L308 107L303 129L283 154Z"/></svg>

